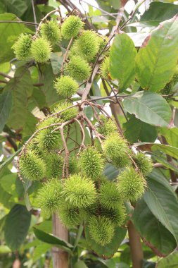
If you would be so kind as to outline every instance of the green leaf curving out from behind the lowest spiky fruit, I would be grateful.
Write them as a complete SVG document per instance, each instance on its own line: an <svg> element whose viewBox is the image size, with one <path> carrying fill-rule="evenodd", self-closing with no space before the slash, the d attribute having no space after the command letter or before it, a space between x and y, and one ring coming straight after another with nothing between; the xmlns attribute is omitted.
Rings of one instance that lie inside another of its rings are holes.
<svg viewBox="0 0 178 268"><path fill-rule="evenodd" d="M98 245L97 243L95 243L95 241L91 238L90 234L89 234L89 230L86 226L85 230L85 236L86 236L86 240L87 243L89 245L89 248L91 248L92 250L94 250L94 252L96 252L96 254L98 256L105 256L105 257L111 257L119 248L120 243L122 242L122 240L124 240L125 235L127 233L127 229L123 229L120 227L117 227L115 229L115 236L113 238L113 240L106 246L101 246Z"/></svg>

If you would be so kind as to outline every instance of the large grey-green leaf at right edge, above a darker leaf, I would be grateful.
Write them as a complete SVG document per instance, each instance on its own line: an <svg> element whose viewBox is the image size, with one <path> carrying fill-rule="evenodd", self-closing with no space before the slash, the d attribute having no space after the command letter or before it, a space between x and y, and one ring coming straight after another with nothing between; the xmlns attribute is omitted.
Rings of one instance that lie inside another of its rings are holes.
<svg viewBox="0 0 178 268"><path fill-rule="evenodd" d="M144 194L144 200L154 216L172 233L178 241L178 201L170 184L164 177L157 173L151 173L148 180L148 190Z"/></svg>

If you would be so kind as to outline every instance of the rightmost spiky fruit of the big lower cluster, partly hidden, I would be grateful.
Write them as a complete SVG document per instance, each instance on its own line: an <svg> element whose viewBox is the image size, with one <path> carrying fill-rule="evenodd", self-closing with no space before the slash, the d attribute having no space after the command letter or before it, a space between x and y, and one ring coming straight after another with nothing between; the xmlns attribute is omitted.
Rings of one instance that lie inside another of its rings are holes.
<svg viewBox="0 0 178 268"><path fill-rule="evenodd" d="M134 162L136 162L136 165L139 167L139 170L144 176L148 176L148 174L151 173L153 169L153 162L142 152L136 154L134 157Z"/></svg>

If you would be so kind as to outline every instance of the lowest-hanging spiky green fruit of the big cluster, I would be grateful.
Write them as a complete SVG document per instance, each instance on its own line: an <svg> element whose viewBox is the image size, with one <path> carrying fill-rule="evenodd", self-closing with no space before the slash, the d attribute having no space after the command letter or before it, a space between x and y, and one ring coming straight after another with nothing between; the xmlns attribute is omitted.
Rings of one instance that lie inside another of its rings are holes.
<svg viewBox="0 0 178 268"><path fill-rule="evenodd" d="M89 233L98 245L108 245L115 233L115 225L107 217L91 217Z"/></svg>

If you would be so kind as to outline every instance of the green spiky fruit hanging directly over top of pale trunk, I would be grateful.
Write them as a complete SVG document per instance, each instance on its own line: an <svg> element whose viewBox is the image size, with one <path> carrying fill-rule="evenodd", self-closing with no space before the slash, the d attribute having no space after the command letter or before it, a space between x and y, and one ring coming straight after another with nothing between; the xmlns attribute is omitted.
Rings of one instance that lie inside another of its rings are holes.
<svg viewBox="0 0 178 268"><path fill-rule="evenodd" d="M78 209L68 207L67 204L63 204L63 206L60 207L58 210L58 217L63 226L68 229L75 228L82 221Z"/></svg>

